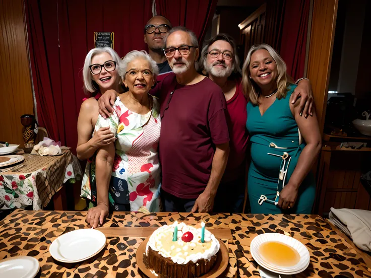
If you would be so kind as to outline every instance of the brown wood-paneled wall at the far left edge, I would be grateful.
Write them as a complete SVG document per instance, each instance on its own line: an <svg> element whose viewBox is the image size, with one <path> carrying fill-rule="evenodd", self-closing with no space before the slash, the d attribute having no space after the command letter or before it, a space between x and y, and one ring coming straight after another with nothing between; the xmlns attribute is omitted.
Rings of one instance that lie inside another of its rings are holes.
<svg viewBox="0 0 371 278"><path fill-rule="evenodd" d="M21 144L20 116L33 114L23 0L0 0L0 141Z"/></svg>

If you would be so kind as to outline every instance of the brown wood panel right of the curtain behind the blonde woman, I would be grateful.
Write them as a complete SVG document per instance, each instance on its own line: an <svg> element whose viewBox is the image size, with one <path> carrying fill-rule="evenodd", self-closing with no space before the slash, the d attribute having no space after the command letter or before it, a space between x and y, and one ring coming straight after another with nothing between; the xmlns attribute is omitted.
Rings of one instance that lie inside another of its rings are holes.
<svg viewBox="0 0 371 278"><path fill-rule="evenodd" d="M311 80L323 132L338 0L314 0L307 78Z"/></svg>

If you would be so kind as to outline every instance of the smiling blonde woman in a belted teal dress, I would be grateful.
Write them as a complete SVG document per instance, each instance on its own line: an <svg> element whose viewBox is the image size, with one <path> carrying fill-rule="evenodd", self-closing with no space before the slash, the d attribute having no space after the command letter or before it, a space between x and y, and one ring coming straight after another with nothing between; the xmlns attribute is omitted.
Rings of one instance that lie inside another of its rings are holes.
<svg viewBox="0 0 371 278"><path fill-rule="evenodd" d="M310 214L316 194L311 168L321 149L316 113L301 117L298 102L292 104L296 85L271 46L253 46L242 75L249 98L251 212Z"/></svg>

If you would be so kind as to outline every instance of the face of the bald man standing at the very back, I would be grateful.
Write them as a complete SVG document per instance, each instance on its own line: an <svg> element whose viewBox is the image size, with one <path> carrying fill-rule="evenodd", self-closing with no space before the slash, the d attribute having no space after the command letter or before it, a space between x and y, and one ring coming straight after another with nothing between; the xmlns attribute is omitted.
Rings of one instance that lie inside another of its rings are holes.
<svg viewBox="0 0 371 278"><path fill-rule="evenodd" d="M167 24L170 26L170 22L166 20L164 17L155 16L151 18L148 24L152 24L154 26L159 26L161 24ZM165 48L165 39L169 35L169 32L161 33L158 28L152 34L148 34L147 32L144 34L144 42L148 44L148 48L151 50L162 50Z"/></svg>

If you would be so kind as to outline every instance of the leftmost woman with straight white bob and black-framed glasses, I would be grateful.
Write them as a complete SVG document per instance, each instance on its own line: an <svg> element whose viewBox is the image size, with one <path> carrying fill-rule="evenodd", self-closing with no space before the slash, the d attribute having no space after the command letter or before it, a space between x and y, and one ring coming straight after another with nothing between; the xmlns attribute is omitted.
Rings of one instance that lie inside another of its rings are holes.
<svg viewBox="0 0 371 278"><path fill-rule="evenodd" d="M93 48L85 57L83 68L84 91L92 96L81 104L77 122L77 157L88 160L81 187L81 197L91 200L89 206L96 203L94 156L98 148L114 142L114 135L108 127L94 131L98 119L99 97L107 90L121 92L121 78L118 75L118 54L110 47Z"/></svg>

